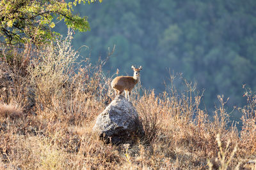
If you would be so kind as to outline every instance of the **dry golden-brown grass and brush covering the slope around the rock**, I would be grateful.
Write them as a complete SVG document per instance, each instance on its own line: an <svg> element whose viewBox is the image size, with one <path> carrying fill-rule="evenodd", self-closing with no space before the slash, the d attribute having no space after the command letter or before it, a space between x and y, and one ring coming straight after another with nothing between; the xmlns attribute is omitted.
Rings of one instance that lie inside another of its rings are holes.
<svg viewBox="0 0 256 170"><path fill-rule="evenodd" d="M13 59L0 63L0 169L255 168L255 94L246 90L248 105L239 108L239 136L236 127L227 127L223 96L210 118L200 109L202 96L194 85L185 81L187 89L177 92L174 77L169 92L132 95L143 138L104 144L92 127L114 97L111 78L102 73L103 62L77 63L70 38L54 48L7 49Z"/></svg>

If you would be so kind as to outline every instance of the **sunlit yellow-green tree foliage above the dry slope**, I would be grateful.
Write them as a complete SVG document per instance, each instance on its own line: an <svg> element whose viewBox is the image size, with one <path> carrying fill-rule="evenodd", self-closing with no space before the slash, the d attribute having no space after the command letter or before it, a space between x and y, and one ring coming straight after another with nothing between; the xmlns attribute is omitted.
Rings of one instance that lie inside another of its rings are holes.
<svg viewBox="0 0 256 170"><path fill-rule="evenodd" d="M1 40L10 45L45 43L59 35L52 31L58 20L64 20L74 30L88 31L87 18L72 13L73 7L81 2L90 4L94 1L3 0L0 2Z"/></svg>

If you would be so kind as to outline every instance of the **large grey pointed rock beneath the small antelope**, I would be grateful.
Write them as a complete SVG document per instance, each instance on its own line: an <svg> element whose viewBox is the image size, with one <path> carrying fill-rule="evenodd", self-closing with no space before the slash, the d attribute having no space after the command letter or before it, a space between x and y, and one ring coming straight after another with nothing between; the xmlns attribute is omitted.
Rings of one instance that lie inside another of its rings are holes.
<svg viewBox="0 0 256 170"><path fill-rule="evenodd" d="M93 132L106 143L122 143L143 130L136 108L124 96L117 96L97 117Z"/></svg>

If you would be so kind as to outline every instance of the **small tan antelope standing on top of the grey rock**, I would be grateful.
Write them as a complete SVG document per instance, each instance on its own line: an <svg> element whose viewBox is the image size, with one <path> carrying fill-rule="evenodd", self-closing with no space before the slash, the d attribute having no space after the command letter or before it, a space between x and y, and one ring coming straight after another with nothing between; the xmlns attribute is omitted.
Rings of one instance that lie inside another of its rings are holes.
<svg viewBox="0 0 256 170"><path fill-rule="evenodd" d="M111 87L115 90L115 96L125 92L125 98L130 101L131 90L140 81L140 71L142 67L131 67L134 71L133 76L117 76L111 81Z"/></svg>

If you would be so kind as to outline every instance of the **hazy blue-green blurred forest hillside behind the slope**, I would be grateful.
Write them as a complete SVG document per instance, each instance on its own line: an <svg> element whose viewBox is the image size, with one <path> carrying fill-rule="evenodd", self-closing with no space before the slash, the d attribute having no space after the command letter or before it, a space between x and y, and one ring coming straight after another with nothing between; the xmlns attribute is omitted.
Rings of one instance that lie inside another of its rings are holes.
<svg viewBox="0 0 256 170"><path fill-rule="evenodd" d="M247 88L256 90L256 1L108 0L79 5L91 31L76 32L73 46L84 57L106 59L112 75L132 75L131 65L143 66L141 83L162 92L171 73L183 73L204 91L204 104L214 108L217 95L230 97L228 106L242 106ZM56 24L62 34L67 27ZM170 71L169 71L170 69ZM169 83L170 84L170 83ZM176 82L180 87L180 81Z"/></svg>

